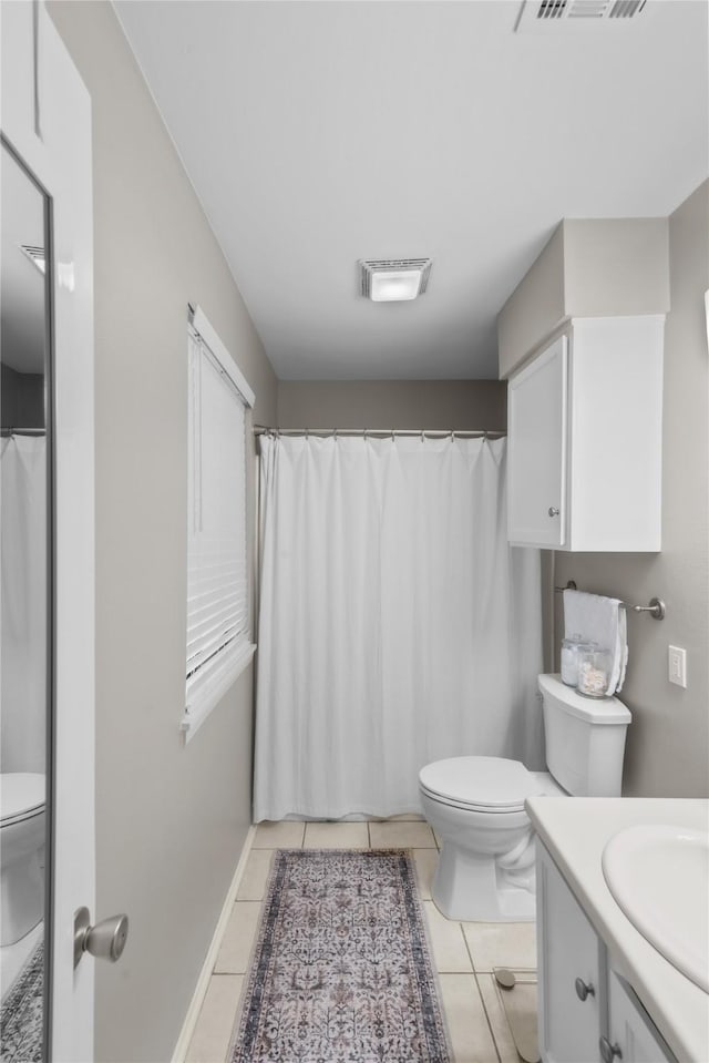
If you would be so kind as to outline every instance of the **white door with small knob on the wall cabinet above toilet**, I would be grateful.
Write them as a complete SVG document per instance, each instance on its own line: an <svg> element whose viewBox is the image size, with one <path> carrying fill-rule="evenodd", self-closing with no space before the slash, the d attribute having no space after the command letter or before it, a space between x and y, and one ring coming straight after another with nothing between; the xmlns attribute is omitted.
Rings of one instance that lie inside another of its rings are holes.
<svg viewBox="0 0 709 1063"><path fill-rule="evenodd" d="M566 541L567 339L561 336L507 390L507 539L518 545Z"/></svg>

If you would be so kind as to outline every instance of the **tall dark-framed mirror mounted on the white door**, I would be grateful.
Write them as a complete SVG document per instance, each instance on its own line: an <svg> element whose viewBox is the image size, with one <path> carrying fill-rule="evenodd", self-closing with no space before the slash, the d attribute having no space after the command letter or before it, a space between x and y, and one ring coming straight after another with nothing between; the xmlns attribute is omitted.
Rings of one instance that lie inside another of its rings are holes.
<svg viewBox="0 0 709 1063"><path fill-rule="evenodd" d="M49 201L0 160L0 978L3 1063L47 1059L51 794Z"/></svg>

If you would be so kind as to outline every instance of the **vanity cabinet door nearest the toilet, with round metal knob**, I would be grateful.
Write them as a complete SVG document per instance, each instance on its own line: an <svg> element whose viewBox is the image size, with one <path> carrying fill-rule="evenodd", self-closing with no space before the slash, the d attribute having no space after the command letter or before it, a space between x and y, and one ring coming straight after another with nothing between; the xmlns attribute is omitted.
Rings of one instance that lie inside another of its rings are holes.
<svg viewBox="0 0 709 1063"><path fill-rule="evenodd" d="M600 1063L605 948L541 846L537 919L542 1059L544 1063Z"/></svg>

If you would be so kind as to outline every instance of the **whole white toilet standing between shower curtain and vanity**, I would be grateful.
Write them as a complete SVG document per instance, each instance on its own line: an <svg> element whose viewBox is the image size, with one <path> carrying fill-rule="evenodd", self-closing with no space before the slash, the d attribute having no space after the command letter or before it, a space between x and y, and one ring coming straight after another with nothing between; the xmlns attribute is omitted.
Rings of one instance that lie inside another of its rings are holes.
<svg viewBox="0 0 709 1063"><path fill-rule="evenodd" d="M534 838L527 797L619 797L630 713L540 675L547 771L502 757L451 757L419 773L423 815L442 846L433 900L449 919L531 921Z"/></svg>

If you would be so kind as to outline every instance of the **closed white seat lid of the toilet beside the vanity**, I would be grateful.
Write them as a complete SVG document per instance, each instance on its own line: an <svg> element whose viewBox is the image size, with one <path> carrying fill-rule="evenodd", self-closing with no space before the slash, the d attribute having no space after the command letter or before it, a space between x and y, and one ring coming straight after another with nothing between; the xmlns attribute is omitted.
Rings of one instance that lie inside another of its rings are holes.
<svg viewBox="0 0 709 1063"><path fill-rule="evenodd" d="M544 793L538 777L522 762L504 757L435 760L421 769L419 785L441 805L493 815L521 812L527 797Z"/></svg>

